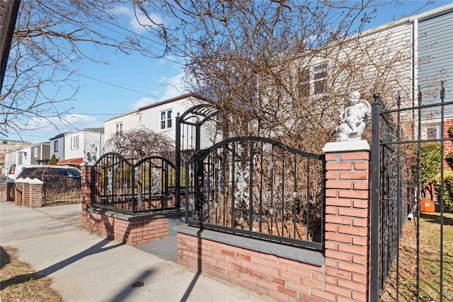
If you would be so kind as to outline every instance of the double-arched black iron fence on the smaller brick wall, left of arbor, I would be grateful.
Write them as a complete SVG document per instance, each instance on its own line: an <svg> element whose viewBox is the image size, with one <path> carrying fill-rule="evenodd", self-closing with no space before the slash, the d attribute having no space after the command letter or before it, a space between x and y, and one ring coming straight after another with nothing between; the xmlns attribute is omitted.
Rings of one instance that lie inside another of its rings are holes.
<svg viewBox="0 0 453 302"><path fill-rule="evenodd" d="M130 163L119 153L105 153L91 170L94 207L127 214L175 209L175 165L161 156Z"/></svg>

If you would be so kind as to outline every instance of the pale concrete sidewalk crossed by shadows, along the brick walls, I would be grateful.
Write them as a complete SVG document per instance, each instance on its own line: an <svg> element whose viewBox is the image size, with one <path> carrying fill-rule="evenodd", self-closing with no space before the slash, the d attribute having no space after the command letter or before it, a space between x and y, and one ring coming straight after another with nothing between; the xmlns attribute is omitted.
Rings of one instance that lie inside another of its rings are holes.
<svg viewBox="0 0 453 302"><path fill-rule="evenodd" d="M0 245L52 277L64 301L275 301L81 228L81 205L0 202ZM152 248L156 248L153 245ZM143 286L132 287L136 282Z"/></svg>

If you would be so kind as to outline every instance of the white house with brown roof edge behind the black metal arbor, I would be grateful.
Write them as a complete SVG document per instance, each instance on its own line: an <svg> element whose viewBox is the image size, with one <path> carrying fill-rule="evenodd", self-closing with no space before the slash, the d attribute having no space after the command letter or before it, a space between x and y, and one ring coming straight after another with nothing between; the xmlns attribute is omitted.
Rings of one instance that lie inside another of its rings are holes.
<svg viewBox="0 0 453 302"><path fill-rule="evenodd" d="M105 120L105 139L108 140L116 133L127 132L131 129L151 129L153 132L165 134L176 141L176 117L202 103L200 97L193 93L180 95L176 98L144 106L124 115ZM212 145L212 135L208 129L203 129L201 148ZM184 149L195 149L195 130L185 132Z"/></svg>

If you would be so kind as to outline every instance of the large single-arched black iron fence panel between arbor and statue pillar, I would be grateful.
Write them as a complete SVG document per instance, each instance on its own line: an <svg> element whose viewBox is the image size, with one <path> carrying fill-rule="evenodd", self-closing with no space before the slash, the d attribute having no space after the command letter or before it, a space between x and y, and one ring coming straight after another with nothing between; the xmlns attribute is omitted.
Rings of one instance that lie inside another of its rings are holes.
<svg viewBox="0 0 453 302"><path fill-rule="evenodd" d="M227 139L185 165L186 221L323 250L323 155L261 137Z"/></svg>

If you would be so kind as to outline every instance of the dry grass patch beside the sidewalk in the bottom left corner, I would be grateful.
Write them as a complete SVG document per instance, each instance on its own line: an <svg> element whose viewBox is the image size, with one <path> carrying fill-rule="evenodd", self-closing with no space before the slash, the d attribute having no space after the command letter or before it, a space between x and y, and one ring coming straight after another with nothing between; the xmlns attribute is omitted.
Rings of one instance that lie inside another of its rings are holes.
<svg viewBox="0 0 453 302"><path fill-rule="evenodd" d="M0 247L0 296L2 302L61 302L62 297L50 289L52 279L42 277L16 257L14 248Z"/></svg>

